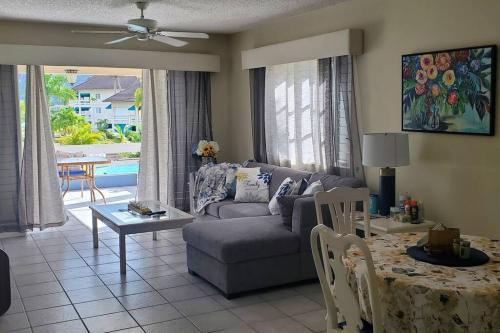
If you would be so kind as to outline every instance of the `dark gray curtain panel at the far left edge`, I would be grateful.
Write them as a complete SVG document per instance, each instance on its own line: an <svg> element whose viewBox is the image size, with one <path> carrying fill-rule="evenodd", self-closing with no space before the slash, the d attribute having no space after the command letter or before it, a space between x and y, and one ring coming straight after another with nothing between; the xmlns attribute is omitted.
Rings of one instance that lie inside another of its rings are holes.
<svg viewBox="0 0 500 333"><path fill-rule="evenodd" d="M17 66L0 65L0 232L25 229L18 214L20 148Z"/></svg>

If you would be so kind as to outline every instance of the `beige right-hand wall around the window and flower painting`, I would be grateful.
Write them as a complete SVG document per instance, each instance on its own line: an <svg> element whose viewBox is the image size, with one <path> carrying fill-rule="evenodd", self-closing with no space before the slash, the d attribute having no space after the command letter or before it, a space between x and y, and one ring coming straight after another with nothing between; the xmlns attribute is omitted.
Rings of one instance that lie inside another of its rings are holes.
<svg viewBox="0 0 500 333"><path fill-rule="evenodd" d="M500 44L497 0L352 0L231 36L229 157L252 157L248 72L240 51L361 28L358 96L364 131L400 131L401 55ZM498 74L497 74L498 75ZM498 84L497 84L498 85ZM498 91L498 89L497 89ZM499 100L497 93L497 101ZM500 128L494 137L410 133L411 165L398 168L398 191L425 203L426 215L463 232L500 237ZM378 170L367 169L370 188Z"/></svg>

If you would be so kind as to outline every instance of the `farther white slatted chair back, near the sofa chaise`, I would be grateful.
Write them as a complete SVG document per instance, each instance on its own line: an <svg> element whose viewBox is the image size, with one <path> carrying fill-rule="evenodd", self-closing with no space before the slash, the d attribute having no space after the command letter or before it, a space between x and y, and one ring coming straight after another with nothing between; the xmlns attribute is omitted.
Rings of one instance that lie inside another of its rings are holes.
<svg viewBox="0 0 500 333"><path fill-rule="evenodd" d="M356 204L363 202L363 230L365 237L370 237L370 214L368 201L370 190L368 188L336 187L328 192L314 194L316 216L318 224L324 224L322 206L328 205L332 218L333 230L339 234L356 234Z"/></svg>

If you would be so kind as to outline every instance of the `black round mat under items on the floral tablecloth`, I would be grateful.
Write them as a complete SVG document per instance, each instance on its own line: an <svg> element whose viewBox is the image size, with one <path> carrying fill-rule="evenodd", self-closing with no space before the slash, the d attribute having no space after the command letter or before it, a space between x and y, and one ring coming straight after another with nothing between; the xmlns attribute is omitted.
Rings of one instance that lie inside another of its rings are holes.
<svg viewBox="0 0 500 333"><path fill-rule="evenodd" d="M410 246L406 249L406 254L415 260L427 262L434 265L442 265L448 267L472 267L486 264L490 258L486 253L478 249L471 248L468 259L462 259L453 255L432 256L424 250L423 247Z"/></svg>

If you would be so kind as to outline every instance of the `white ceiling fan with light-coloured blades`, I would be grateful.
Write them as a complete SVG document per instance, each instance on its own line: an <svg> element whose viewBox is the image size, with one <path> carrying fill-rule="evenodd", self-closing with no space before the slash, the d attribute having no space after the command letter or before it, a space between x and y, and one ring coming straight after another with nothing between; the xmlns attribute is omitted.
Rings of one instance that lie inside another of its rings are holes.
<svg viewBox="0 0 500 333"><path fill-rule="evenodd" d="M177 39L177 38L209 38L208 34L203 32L187 32L187 31L158 31L157 21L152 19L144 18L144 10L148 6L146 1L138 1L135 3L137 8L141 11L141 17L137 19L131 19L127 22L128 31L119 30L72 30L73 33L85 33L85 34L121 34L127 35L118 39L107 42L107 45L117 44L127 41L132 38L137 38L140 41L155 40L160 43L168 44L175 47L181 47L187 45L188 43Z"/></svg>

